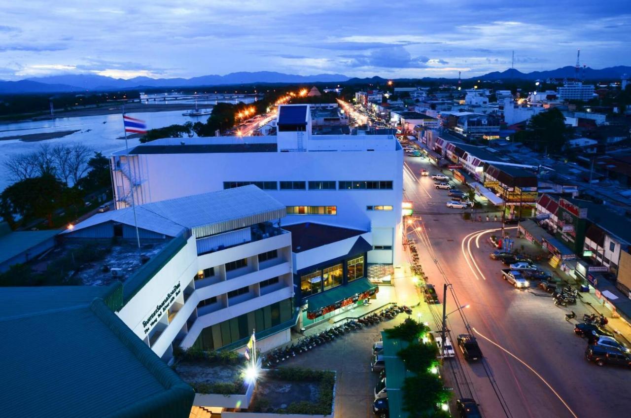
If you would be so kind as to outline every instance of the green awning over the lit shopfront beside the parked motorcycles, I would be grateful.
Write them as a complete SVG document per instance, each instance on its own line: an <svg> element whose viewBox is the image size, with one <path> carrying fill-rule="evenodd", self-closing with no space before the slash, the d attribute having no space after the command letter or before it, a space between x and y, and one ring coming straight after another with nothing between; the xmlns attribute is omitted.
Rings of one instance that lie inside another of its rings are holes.
<svg viewBox="0 0 631 418"><path fill-rule="evenodd" d="M317 318L342 306L348 306L361 299L368 299L377 292L379 292L379 287L370 283L368 278L358 278L345 286L338 286L309 297L307 299L307 318Z"/></svg>

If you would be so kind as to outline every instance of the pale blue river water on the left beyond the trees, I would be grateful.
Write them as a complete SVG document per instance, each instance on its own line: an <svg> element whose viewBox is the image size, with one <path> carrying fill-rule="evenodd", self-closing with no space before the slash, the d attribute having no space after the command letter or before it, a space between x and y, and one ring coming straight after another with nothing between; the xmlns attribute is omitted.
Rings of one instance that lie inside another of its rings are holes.
<svg viewBox="0 0 631 418"><path fill-rule="evenodd" d="M239 101L251 103L254 100L240 99ZM180 102L182 103L182 102ZM200 109L208 109L211 105L200 103ZM168 112L133 112L127 116L136 117L146 122L148 129L163 128L172 124L183 124L184 122L206 122L208 115L204 116L184 116L186 110L172 110ZM25 142L19 139L2 140L3 137L16 136L20 134L52 133L58 131L74 131L62 138L54 138L43 141ZM10 155L27 153L36 150L41 144L56 145L57 143L80 142L90 146L95 151L100 151L107 156L110 153L125 148L125 140L117 139L122 137L123 124L121 114L80 116L80 117L58 117L45 121L22 121L8 124L0 124L0 162ZM129 147L139 144L138 138L128 140ZM8 173L0 164L0 192L9 186L13 181L9 179Z"/></svg>

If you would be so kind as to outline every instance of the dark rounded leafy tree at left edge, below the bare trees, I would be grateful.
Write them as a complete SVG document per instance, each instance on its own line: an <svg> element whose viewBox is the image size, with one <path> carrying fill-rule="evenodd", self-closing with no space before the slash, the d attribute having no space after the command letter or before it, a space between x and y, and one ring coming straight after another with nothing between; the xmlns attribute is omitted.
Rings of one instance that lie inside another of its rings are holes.
<svg viewBox="0 0 631 418"><path fill-rule="evenodd" d="M24 179L4 189L0 194L0 214L15 227L15 215L23 219L45 218L52 226L52 215L58 209L74 203L68 188L52 174Z"/></svg>

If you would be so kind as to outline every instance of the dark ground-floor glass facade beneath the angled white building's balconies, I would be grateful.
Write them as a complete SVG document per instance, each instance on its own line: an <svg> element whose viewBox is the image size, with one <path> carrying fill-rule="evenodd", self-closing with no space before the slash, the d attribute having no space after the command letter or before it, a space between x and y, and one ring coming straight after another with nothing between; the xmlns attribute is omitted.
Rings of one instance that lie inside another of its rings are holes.
<svg viewBox="0 0 631 418"><path fill-rule="evenodd" d="M217 350L230 343L249 338L252 335L252 330L256 330L258 335L273 326L285 323L292 319L292 314L292 299L285 299L204 328L192 347L202 350Z"/></svg>

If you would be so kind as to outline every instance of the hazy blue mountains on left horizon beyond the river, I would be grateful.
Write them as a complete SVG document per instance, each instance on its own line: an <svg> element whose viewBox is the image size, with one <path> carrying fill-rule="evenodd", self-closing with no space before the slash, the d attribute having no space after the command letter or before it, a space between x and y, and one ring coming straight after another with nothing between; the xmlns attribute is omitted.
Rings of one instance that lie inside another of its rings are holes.
<svg viewBox="0 0 631 418"><path fill-rule="evenodd" d="M348 77L341 74L318 74L301 76L293 74L276 73L273 71L257 71L249 73L241 71L230 73L224 76L206 75L193 78L150 78L134 77L129 80L122 78L112 78L93 74L58 75L47 77L28 78L27 80L45 85L55 85L56 88L63 85L64 90L72 86L78 90L113 90L119 88L147 88L147 87L197 87L197 86L218 86L237 85L252 83L317 83L317 82L342 82ZM52 88L52 87L51 87ZM56 90L49 90L56 91ZM26 93L26 91L25 91Z"/></svg>

